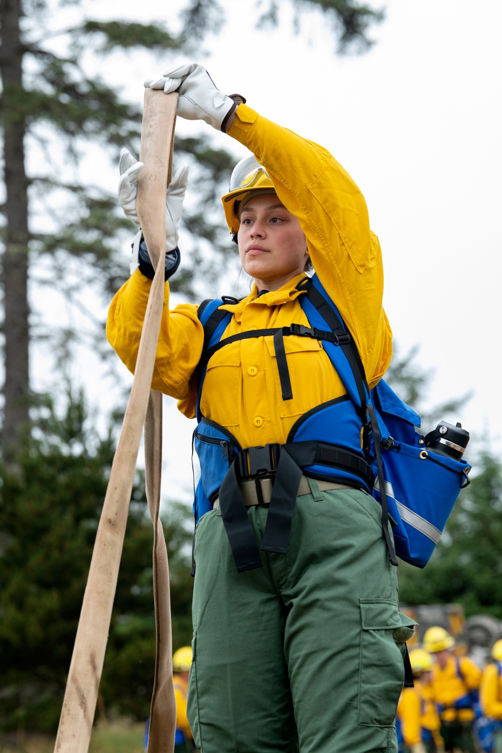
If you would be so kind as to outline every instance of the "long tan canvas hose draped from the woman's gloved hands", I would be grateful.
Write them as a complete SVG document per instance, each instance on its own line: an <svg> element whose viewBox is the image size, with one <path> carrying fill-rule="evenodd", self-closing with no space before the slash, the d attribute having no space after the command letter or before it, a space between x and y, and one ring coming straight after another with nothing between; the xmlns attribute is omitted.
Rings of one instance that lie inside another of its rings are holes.
<svg viewBox="0 0 502 753"><path fill-rule="evenodd" d="M172 634L169 568L159 520L162 465L162 395L151 391L164 297L166 186L171 180L172 144L178 95L145 90L136 209L151 261L157 271L141 332L129 403L111 467L89 577L71 657L55 753L87 753L111 620L136 459L145 425L148 508L154 524L154 600L157 654L148 753L172 753L175 696L172 687Z"/></svg>

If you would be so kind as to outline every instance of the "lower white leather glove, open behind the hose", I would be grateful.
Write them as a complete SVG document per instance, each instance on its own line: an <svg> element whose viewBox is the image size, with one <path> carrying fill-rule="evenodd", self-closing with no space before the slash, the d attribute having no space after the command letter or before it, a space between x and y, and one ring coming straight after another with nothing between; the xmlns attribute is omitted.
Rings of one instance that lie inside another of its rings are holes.
<svg viewBox="0 0 502 753"><path fill-rule="evenodd" d="M138 193L138 175L143 169L127 149L120 151L120 180L118 184L118 201L124 215L139 226L136 213L136 194ZM181 167L167 187L166 194L166 248L171 251L178 245L178 225L183 209L184 194L188 183L188 165Z"/></svg>

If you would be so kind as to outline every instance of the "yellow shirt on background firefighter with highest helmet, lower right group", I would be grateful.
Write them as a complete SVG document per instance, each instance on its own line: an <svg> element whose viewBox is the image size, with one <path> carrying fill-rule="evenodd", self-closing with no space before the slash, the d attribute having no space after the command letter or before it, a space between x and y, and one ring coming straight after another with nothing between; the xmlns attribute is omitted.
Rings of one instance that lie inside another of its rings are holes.
<svg viewBox="0 0 502 753"><path fill-rule="evenodd" d="M437 663L432 668L431 686L434 700L444 709L441 712L443 721L473 721L474 718L472 709L455 709L455 703L469 691L479 687L481 670L468 657L460 657L458 665L460 672L457 660L450 656L445 669L441 669Z"/></svg>

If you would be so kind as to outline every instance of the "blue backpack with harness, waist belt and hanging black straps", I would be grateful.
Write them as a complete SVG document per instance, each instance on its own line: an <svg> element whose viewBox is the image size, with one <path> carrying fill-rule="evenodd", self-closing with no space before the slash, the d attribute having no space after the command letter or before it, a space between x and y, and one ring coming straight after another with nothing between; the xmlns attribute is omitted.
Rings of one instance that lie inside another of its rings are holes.
<svg viewBox="0 0 502 753"><path fill-rule="evenodd" d="M285 553L303 473L373 493L382 504L383 535L393 564L397 565L397 561L388 532L389 512L395 524L397 553L423 567L458 496L459 477L468 483L470 466L464 461L424 453L423 437L416 431L420 416L384 380L370 392L354 341L317 275L300 281L298 288L305 291L299 300L309 327L292 324L289 328L249 331L222 340L233 314L219 306L229 299L205 301L199 307L205 341L197 373L198 425L193 434L201 467L194 503L196 522L212 509L218 495L237 569L242 572L260 567L239 480L260 475L274 479L261 548ZM229 431L202 416L200 396L205 370L211 355L221 347L248 337L271 335L284 400L291 398L284 337L321 340L347 394L300 416L286 444L242 448ZM385 479L385 484L380 485L379 478Z"/></svg>

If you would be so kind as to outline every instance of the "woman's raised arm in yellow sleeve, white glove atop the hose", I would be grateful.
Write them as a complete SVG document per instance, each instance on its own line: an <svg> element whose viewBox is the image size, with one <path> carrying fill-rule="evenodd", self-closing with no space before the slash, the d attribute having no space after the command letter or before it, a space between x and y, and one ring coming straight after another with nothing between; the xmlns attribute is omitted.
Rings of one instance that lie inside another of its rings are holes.
<svg viewBox="0 0 502 753"><path fill-rule="evenodd" d="M181 66L145 86L178 91L181 117L228 130L266 167L279 199L299 218L315 270L357 343L370 385L376 383L392 353L382 255L348 173L326 149L238 105L242 97L218 90L202 66Z"/></svg>

